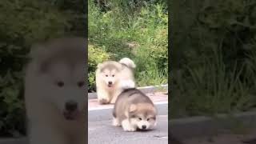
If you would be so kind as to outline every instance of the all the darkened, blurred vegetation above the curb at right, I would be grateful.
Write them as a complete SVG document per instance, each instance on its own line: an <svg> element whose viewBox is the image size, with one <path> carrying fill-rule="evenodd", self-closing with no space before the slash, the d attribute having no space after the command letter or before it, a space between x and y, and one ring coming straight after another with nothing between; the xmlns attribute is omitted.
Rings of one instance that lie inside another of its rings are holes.
<svg viewBox="0 0 256 144"><path fill-rule="evenodd" d="M170 117L252 109L255 2L196 0L170 5L174 26Z"/></svg>

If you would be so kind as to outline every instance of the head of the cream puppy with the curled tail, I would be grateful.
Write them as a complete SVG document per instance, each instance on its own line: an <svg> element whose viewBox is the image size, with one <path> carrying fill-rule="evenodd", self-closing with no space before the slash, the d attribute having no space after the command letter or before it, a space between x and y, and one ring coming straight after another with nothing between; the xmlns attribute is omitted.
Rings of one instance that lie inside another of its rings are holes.
<svg viewBox="0 0 256 144"><path fill-rule="evenodd" d="M103 62L98 64L99 77L108 88L113 88L119 80L119 72L122 65L118 62Z"/></svg>

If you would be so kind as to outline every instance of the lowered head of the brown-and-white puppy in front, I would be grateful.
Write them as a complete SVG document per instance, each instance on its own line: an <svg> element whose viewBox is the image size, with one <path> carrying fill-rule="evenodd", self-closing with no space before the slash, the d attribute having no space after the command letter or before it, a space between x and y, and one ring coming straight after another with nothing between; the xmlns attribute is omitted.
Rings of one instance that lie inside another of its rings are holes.
<svg viewBox="0 0 256 144"><path fill-rule="evenodd" d="M131 104L129 117L132 125L139 130L150 130L156 126L156 108L150 103Z"/></svg>

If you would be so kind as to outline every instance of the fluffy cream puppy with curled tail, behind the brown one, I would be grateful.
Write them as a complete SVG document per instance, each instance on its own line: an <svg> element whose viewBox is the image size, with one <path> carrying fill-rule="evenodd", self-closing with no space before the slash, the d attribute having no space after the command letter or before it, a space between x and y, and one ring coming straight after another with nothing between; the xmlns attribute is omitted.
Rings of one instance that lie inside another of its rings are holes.
<svg viewBox="0 0 256 144"><path fill-rule="evenodd" d="M123 89L134 88L134 68L135 64L130 58L99 63L96 70L98 102L114 103Z"/></svg>

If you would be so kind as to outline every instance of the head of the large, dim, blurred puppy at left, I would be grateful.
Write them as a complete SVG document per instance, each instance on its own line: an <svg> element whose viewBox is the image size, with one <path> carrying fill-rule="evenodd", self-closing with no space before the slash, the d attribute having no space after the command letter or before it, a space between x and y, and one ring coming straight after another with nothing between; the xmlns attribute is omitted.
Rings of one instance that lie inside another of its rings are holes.
<svg viewBox="0 0 256 144"><path fill-rule="evenodd" d="M42 101L67 120L82 117L86 108L85 45L84 39L57 40L43 45L34 59L42 82Z"/></svg>

